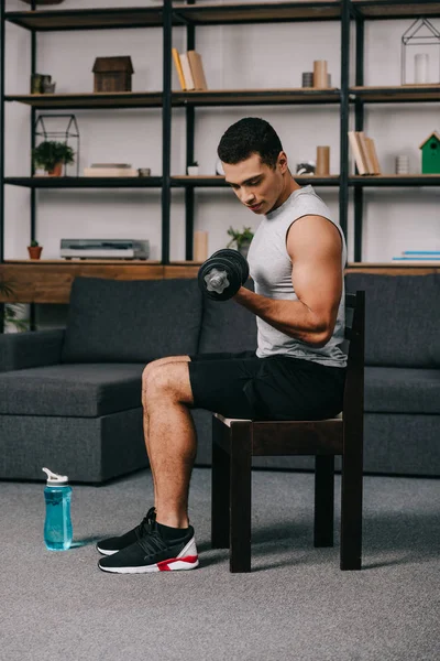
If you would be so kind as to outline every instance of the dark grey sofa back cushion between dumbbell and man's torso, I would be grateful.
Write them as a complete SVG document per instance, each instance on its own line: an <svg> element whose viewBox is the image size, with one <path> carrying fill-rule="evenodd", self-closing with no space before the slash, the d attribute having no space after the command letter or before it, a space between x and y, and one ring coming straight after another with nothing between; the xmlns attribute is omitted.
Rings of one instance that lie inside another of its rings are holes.
<svg viewBox="0 0 440 661"><path fill-rule="evenodd" d="M246 289L253 291L253 281ZM256 317L240 303L204 297L199 354L256 349Z"/></svg>

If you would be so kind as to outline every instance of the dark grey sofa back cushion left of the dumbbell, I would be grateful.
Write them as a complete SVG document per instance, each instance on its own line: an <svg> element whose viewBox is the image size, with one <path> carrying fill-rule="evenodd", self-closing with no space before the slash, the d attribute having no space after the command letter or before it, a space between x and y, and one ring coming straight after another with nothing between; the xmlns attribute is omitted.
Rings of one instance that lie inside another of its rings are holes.
<svg viewBox="0 0 440 661"><path fill-rule="evenodd" d="M76 278L63 362L148 362L197 350L197 280Z"/></svg>

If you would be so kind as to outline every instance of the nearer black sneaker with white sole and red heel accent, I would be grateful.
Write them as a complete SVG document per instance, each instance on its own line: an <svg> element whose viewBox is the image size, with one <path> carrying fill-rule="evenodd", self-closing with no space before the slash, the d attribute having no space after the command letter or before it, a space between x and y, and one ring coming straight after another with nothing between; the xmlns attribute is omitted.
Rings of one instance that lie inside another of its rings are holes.
<svg viewBox="0 0 440 661"><path fill-rule="evenodd" d="M161 534L155 518L147 525L148 529L144 528L144 533L140 534L135 542L121 551L114 552L113 550L108 557L101 557L98 567L103 572L114 574L144 574L146 572L195 570L198 566L199 559L193 525L183 531L182 538L170 541ZM121 538L113 539L120 540ZM107 540L107 542L109 541Z"/></svg>

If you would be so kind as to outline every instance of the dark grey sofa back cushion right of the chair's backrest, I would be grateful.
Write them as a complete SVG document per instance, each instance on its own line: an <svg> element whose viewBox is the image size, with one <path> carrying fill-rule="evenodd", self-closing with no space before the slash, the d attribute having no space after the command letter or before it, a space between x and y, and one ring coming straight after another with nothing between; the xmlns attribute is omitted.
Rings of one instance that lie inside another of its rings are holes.
<svg viewBox="0 0 440 661"><path fill-rule="evenodd" d="M440 275L346 273L365 291L365 365L440 367Z"/></svg>

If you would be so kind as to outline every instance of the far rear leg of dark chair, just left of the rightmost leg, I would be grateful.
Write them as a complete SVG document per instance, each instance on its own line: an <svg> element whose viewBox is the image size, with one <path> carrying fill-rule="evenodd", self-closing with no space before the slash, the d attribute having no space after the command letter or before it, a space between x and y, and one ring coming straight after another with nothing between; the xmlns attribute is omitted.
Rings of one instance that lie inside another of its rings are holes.
<svg viewBox="0 0 440 661"><path fill-rule="evenodd" d="M315 457L315 546L333 545L334 456Z"/></svg>

